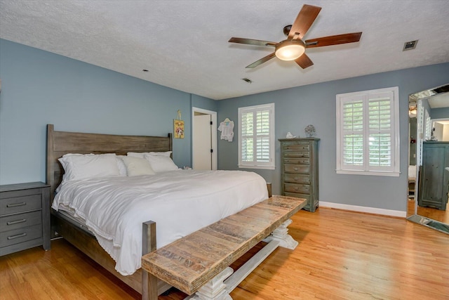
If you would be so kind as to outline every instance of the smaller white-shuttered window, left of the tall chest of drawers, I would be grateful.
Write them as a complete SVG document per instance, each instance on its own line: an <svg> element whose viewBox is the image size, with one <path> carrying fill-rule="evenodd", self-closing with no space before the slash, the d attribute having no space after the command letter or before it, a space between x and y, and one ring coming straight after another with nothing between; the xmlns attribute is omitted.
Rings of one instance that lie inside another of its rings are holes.
<svg viewBox="0 0 449 300"><path fill-rule="evenodd" d="M239 167L274 169L274 103L239 107Z"/></svg>

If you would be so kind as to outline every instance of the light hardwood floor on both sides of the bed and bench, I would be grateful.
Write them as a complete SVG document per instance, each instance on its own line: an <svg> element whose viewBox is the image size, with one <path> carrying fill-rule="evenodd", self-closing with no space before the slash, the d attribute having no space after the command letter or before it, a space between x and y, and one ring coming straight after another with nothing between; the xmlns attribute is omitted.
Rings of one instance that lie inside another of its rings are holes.
<svg viewBox="0 0 449 300"><path fill-rule="evenodd" d="M233 299L449 299L445 233L325 208L298 212L289 228L298 247L276 249ZM0 299L140 299L65 240L51 246L0 257Z"/></svg>

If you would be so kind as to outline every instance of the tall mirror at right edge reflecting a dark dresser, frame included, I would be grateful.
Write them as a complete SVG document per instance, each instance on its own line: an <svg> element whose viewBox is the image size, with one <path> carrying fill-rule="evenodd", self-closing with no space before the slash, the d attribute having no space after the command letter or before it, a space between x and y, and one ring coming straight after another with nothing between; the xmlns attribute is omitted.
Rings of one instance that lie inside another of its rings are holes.
<svg viewBox="0 0 449 300"><path fill-rule="evenodd" d="M407 219L449 234L449 84L409 96Z"/></svg>

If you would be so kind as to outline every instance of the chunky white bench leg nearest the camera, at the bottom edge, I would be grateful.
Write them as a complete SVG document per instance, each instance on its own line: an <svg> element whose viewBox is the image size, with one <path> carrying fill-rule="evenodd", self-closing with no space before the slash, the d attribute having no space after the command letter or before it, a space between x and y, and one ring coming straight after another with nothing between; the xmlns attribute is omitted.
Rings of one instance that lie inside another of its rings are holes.
<svg viewBox="0 0 449 300"><path fill-rule="evenodd" d="M223 283L226 278L228 278L234 270L227 267L222 270L217 276L209 280L206 285L203 285L201 289L198 290L191 298L194 300L232 300L229 296L226 285Z"/></svg>

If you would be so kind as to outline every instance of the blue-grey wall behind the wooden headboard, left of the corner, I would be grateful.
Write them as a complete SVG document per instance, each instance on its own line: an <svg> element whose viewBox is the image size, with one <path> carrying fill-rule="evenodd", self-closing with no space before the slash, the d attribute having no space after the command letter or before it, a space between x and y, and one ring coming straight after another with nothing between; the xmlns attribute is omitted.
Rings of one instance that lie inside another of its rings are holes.
<svg viewBox="0 0 449 300"><path fill-rule="evenodd" d="M46 124L57 131L165 136L181 110L173 160L192 165L191 103L215 101L0 39L0 184L45 181Z"/></svg>

